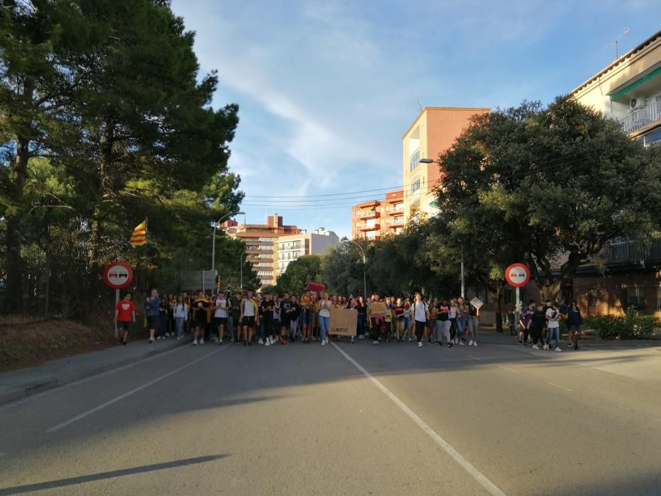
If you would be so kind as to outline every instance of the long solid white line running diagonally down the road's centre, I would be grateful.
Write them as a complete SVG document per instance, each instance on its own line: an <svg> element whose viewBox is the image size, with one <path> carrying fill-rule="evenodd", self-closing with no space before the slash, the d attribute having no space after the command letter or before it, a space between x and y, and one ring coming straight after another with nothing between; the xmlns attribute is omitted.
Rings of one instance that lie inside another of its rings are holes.
<svg viewBox="0 0 661 496"><path fill-rule="evenodd" d="M405 414L408 415L413 420L413 422L415 422L418 425L418 427L420 427L420 429L426 432L426 434L429 437L431 437L431 439L434 439L436 444L438 444L441 447L441 449L443 449L446 453L448 453L448 455L450 455L454 459L454 461L456 461L459 465L461 465L461 467L466 472L468 472L468 474L471 477L473 477L482 487L484 487L485 490L487 490L487 492L489 492L490 495L505 496L505 493L499 490L498 487L486 477L486 475L484 475L482 472L480 472L480 470L475 468L475 466L473 466L473 464L470 463L470 461L466 460L461 455L461 453L456 451L456 449L454 449L451 446L451 444L448 443L448 441L446 441L441 436L439 436L439 434L436 431L434 431L434 429L431 429L431 427L429 427L429 425L426 422L424 422L423 419L418 417L413 410L407 407L407 405L405 405L405 403L402 402L400 398L397 398L397 396L395 396L388 388L386 388L385 385L380 383L377 378L375 378L371 373L366 371L365 368L363 368L363 366L361 366L360 363L352 359L351 356L349 356L349 354L346 354L346 352L340 349L340 347L337 346L337 344L335 344L334 342L331 342L330 344L332 344L335 347L335 349L337 349L337 351L339 351L342 354L342 356L344 356L344 358L347 361L349 361L349 363L351 363L354 367L356 367L359 371L361 371L361 373L363 373L363 376L366 376L366 378L372 381L372 383L378 389L380 389L382 393L388 396L388 398L390 398L390 400L392 400L392 402L395 403L395 405L400 407L400 409L403 412L405 412Z"/></svg>

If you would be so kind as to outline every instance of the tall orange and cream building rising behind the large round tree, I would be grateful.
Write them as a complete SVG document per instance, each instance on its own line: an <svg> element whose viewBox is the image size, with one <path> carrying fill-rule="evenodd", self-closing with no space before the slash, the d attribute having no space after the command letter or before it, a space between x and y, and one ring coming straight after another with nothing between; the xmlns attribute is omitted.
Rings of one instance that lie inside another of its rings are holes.
<svg viewBox="0 0 661 496"><path fill-rule="evenodd" d="M439 181L438 163L421 163L421 159L438 161L453 141L468 126L476 113L489 108L425 107L402 137L404 182L404 219L414 215L430 217L436 213L434 188Z"/></svg>

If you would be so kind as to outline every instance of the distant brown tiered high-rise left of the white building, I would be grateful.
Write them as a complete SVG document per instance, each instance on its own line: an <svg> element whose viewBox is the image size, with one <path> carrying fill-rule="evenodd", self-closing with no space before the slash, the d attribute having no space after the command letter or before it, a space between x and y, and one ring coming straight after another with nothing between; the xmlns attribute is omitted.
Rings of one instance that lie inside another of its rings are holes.
<svg viewBox="0 0 661 496"><path fill-rule="evenodd" d="M246 259L261 281L262 286L273 286L278 271L278 238L284 235L298 234L295 225L283 225L280 215L269 215L266 224L238 224L227 220L224 224L227 235L243 239L246 244Z"/></svg>

